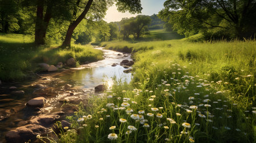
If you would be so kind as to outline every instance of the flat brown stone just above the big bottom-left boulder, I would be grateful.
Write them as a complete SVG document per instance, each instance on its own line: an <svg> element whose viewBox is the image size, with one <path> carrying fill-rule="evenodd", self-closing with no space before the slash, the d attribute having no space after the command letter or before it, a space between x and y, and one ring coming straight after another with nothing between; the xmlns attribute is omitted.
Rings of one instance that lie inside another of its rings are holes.
<svg viewBox="0 0 256 143"><path fill-rule="evenodd" d="M55 121L59 118L59 115L41 115L31 119L30 124L42 125L43 127L51 127L51 125L55 123Z"/></svg>

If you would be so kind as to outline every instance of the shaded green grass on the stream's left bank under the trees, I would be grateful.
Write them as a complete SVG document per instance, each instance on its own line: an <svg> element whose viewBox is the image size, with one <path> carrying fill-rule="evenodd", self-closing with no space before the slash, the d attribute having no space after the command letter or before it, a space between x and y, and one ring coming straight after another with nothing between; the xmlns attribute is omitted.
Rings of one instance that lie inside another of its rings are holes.
<svg viewBox="0 0 256 143"><path fill-rule="evenodd" d="M75 58L82 64L102 60L103 53L91 45L72 45L70 50L55 47L36 47L33 37L28 35L0 35L0 79L2 81L21 81L38 72L37 64L45 62L56 65Z"/></svg>

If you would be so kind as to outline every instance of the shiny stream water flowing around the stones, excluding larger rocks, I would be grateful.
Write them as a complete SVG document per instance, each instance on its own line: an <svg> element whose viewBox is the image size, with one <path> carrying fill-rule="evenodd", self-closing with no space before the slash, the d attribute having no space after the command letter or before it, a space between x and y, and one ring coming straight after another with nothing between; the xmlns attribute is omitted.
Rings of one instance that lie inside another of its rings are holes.
<svg viewBox="0 0 256 143"><path fill-rule="evenodd" d="M72 113L71 109L63 109L63 100L71 103L86 102L90 96L97 96L94 87L105 83L110 88L112 78L130 82L131 73L123 73L122 60L131 61L130 54L109 51L103 48L104 60L81 65L79 68L63 70L57 73L40 74L42 78L32 82L13 83L0 86L0 142L5 142L5 133L42 114L64 111ZM118 56L119 55L119 56ZM118 64L117 66L112 66ZM23 90L24 95L11 95L10 86ZM26 102L38 96L44 96L47 103L40 110L35 111L25 106Z"/></svg>

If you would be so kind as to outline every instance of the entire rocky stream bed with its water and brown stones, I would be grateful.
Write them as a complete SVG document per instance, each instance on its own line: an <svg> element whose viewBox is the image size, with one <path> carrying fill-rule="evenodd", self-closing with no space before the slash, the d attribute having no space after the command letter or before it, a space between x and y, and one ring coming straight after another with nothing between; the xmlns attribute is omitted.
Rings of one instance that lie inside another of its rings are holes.
<svg viewBox="0 0 256 143"><path fill-rule="evenodd" d="M1 82L0 142L35 142L38 134L51 134L51 128L58 132L56 121L63 127L69 126L65 116L77 110L71 104L82 102L85 107L90 106L88 99L101 96L103 90L111 88L113 77L130 82L130 66L134 64L131 55L97 49L104 52L104 60L61 72L52 73L50 69L32 82ZM60 63L55 68L61 66Z"/></svg>

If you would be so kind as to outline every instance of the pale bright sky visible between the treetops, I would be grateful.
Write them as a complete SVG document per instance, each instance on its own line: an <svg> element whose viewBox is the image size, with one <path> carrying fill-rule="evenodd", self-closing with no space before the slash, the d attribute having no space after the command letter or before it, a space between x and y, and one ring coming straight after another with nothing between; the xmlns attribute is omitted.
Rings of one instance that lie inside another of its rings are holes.
<svg viewBox="0 0 256 143"><path fill-rule="evenodd" d="M158 14L160 10L162 10L163 3L166 0L141 0L142 5L142 13L141 15L153 15ZM106 22L119 22L122 18L131 18L138 14L130 14L129 12L118 12L117 7L113 5L109 7L108 11L106 11L105 21Z"/></svg>

